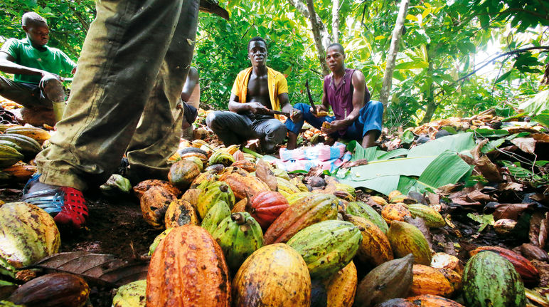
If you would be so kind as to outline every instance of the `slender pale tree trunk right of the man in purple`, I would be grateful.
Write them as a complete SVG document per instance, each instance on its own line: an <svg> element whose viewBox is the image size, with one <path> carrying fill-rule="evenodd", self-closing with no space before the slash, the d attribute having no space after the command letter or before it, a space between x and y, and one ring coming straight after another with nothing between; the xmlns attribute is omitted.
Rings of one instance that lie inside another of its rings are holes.
<svg viewBox="0 0 549 307"><path fill-rule="evenodd" d="M395 61L398 53L398 44L400 43L400 36L403 33L404 19L408 11L408 4L410 0L402 0L400 2L400 10L398 11L397 21L395 29L393 30L393 38L391 38L391 44L389 47L389 53L385 60L385 73L383 74L383 85L379 93L379 100L383 103L383 106L387 106L389 102L389 94L391 85L393 85L393 71L395 71Z"/></svg>

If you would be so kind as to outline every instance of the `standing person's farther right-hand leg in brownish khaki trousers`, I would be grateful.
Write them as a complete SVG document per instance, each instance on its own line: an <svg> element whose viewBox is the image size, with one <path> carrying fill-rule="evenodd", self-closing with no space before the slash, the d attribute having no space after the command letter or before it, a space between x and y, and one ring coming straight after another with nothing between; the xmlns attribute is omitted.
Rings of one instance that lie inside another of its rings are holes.
<svg viewBox="0 0 549 307"><path fill-rule="evenodd" d="M193 59L194 44L188 41L195 41L197 23L198 1L184 5L174 39L126 152L127 175L132 184L144 179L168 178L167 161L176 152L181 138L183 105L178 106L181 88Z"/></svg>

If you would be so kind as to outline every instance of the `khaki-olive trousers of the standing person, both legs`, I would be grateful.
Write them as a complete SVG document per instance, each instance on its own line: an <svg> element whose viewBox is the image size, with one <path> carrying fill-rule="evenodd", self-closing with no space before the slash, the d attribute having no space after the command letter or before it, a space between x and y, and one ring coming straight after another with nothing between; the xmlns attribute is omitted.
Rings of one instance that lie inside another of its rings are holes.
<svg viewBox="0 0 549 307"><path fill-rule="evenodd" d="M126 153L132 183L166 179L182 110L176 106L193 56L198 0L98 0L71 95L36 157L40 181L102 184Z"/></svg>

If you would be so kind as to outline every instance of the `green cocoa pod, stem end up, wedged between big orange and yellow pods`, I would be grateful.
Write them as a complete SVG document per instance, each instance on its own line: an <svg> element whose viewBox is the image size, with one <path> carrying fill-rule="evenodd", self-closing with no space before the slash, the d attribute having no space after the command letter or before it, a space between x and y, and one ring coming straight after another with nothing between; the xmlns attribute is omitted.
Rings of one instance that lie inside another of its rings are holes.
<svg viewBox="0 0 549 307"><path fill-rule="evenodd" d="M225 217L212 234L218 242L229 268L235 272L254 251L263 246L260 224L247 212Z"/></svg>

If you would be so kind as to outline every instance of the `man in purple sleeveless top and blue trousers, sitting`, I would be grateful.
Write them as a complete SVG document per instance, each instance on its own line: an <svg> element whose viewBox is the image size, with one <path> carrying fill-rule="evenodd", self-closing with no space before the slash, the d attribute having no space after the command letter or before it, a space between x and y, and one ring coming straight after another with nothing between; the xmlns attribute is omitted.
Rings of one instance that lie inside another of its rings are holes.
<svg viewBox="0 0 549 307"><path fill-rule="evenodd" d="M371 147L381 134L383 104L370 100L364 74L345 67L345 51L339 43L332 43L326 50L326 63L331 73L324 77L322 104L313 110L306 103L297 103L294 109L299 110L303 120L295 122L288 119L287 149L292 150L297 144L297 135L304 121L322 130L335 140L357 140L362 147ZM321 111L334 110L334 116L320 116ZM294 118L296 118L294 110Z"/></svg>

